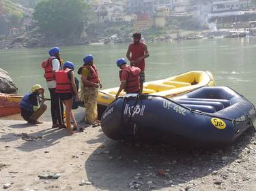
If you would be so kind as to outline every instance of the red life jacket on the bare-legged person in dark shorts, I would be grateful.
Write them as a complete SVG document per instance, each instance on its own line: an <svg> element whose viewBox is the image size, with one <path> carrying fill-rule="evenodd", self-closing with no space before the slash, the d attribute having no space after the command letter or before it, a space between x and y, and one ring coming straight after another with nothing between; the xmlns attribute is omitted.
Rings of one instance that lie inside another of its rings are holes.
<svg viewBox="0 0 256 191"><path fill-rule="evenodd" d="M55 92L57 93L72 92L72 84L70 82L70 79L68 78L69 71L71 71L71 69L55 71L55 80L56 80Z"/></svg>

